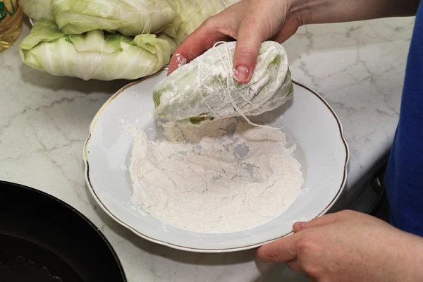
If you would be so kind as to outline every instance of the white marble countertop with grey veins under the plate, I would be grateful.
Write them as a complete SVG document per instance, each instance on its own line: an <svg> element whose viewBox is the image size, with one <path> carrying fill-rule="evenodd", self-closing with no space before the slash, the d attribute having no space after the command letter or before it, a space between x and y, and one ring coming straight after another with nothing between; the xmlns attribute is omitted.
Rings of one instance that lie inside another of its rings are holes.
<svg viewBox="0 0 423 282"><path fill-rule="evenodd" d="M321 93L343 122L351 149L343 200L391 145L413 22L302 27L284 44L293 78ZM128 81L34 71L21 63L18 44L0 53L0 75L0 179L44 190L85 214L114 246L128 281L305 281L284 266L255 262L253 251L201 255L149 243L99 209L85 186L82 145L97 110Z"/></svg>

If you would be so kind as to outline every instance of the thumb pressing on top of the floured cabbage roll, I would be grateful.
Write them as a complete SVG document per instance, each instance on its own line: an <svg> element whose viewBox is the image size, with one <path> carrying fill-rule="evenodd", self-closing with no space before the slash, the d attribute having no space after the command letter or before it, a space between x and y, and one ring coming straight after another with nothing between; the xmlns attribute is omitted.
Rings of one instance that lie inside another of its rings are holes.
<svg viewBox="0 0 423 282"><path fill-rule="evenodd" d="M233 73L237 82L245 84L250 81L264 39L264 33L255 21L240 23L233 57Z"/></svg>

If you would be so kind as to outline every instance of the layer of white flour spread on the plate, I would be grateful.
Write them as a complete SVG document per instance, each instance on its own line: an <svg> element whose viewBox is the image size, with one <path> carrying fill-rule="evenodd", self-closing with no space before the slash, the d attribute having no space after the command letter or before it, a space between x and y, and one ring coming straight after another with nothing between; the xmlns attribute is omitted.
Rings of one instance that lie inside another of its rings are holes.
<svg viewBox="0 0 423 282"><path fill-rule="evenodd" d="M281 130L236 118L201 125L168 122L165 138L135 138L133 202L154 218L200 233L255 228L301 193L300 163Z"/></svg>

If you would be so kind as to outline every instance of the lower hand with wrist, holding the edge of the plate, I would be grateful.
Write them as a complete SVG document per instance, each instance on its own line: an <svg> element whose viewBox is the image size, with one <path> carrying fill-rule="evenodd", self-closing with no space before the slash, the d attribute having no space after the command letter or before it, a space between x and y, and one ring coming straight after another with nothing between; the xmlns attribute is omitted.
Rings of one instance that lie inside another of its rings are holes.
<svg viewBox="0 0 423 282"><path fill-rule="evenodd" d="M343 211L295 223L293 235L259 247L309 281L423 281L423 239L373 216Z"/></svg>

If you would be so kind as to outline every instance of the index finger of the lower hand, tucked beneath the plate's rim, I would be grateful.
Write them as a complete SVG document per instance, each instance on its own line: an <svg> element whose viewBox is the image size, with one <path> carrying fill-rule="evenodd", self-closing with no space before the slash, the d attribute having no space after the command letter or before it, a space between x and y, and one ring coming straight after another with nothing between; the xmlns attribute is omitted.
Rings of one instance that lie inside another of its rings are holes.
<svg viewBox="0 0 423 282"><path fill-rule="evenodd" d="M288 235L257 249L256 255L262 262L288 262L297 257L296 244L300 234Z"/></svg>

